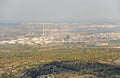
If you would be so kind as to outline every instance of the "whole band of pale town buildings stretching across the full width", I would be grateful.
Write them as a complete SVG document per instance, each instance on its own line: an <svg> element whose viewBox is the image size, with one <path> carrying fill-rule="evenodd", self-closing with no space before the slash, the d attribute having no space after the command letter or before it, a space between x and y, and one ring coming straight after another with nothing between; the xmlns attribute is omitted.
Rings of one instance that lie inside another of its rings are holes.
<svg viewBox="0 0 120 78"><path fill-rule="evenodd" d="M18 37L13 40L0 41L0 45L4 44L22 44L22 45L43 45L54 43L85 43L96 45L108 45L108 41L120 40L120 33L107 32L107 33L54 33L54 36L41 36L41 37ZM104 43L103 43L104 42Z"/></svg>

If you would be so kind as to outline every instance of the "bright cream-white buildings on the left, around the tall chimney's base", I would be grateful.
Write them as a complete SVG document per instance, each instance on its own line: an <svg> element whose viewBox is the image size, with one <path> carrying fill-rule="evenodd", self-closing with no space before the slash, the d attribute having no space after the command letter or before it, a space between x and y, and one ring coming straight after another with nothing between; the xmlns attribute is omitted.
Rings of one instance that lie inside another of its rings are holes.
<svg viewBox="0 0 120 78"><path fill-rule="evenodd" d="M0 41L1 45L4 44L22 44L22 45L42 45L42 44L49 44L52 43L52 38L45 38L45 37L18 37L16 40L6 40L6 41Z"/></svg>

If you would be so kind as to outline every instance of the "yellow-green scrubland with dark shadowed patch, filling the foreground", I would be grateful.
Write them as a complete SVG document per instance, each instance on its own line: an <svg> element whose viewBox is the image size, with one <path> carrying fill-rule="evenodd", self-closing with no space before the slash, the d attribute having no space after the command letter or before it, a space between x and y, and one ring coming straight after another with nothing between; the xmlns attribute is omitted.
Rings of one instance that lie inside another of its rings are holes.
<svg viewBox="0 0 120 78"><path fill-rule="evenodd" d="M1 78L119 78L120 49L0 46Z"/></svg>

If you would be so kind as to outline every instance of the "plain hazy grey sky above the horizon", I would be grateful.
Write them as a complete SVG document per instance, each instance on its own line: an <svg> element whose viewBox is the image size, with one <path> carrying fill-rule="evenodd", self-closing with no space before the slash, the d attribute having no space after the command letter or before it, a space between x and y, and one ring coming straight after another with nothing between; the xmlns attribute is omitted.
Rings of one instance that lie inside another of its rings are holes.
<svg viewBox="0 0 120 78"><path fill-rule="evenodd" d="M120 0L0 0L0 22L120 22Z"/></svg>

